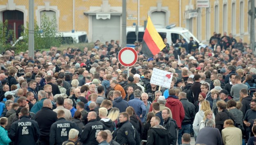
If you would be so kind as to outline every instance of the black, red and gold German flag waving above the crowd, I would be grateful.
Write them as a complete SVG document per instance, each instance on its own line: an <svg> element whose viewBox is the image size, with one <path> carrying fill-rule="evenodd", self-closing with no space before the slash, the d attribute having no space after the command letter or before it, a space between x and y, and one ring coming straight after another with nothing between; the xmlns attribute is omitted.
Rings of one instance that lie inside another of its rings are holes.
<svg viewBox="0 0 256 145"><path fill-rule="evenodd" d="M144 32L141 51L146 57L152 58L164 47L165 44L163 43L161 36L156 31L150 17L148 16L147 27Z"/></svg>

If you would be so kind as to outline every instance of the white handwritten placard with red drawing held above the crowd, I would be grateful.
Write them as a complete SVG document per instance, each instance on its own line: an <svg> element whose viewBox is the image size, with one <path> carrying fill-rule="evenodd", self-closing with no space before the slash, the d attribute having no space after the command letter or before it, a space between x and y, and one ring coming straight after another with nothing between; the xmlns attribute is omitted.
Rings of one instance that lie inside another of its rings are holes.
<svg viewBox="0 0 256 145"><path fill-rule="evenodd" d="M168 71L154 68L152 71L150 83L170 89L172 76L173 74Z"/></svg>

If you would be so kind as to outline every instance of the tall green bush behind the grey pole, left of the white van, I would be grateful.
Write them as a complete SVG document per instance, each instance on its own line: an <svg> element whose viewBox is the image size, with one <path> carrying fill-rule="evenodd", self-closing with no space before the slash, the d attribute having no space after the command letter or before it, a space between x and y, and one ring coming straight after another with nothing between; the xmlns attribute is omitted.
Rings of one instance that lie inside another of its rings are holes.
<svg viewBox="0 0 256 145"><path fill-rule="evenodd" d="M58 33L58 25L55 17L50 20L44 13L41 19L41 26L38 26L37 22L34 22L34 24L35 50L49 49L51 46L59 47L61 45L61 35ZM15 45L16 51L26 51L28 49L28 33L27 23L27 28L21 34L23 41Z"/></svg>

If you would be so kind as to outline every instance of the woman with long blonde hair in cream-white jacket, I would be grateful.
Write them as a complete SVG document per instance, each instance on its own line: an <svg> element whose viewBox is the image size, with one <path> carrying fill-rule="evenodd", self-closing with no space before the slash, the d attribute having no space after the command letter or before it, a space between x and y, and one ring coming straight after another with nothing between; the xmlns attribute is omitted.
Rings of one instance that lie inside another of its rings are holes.
<svg viewBox="0 0 256 145"><path fill-rule="evenodd" d="M194 122L193 122L193 130L194 130L195 138L196 138L196 136L199 132L199 124L203 120L204 112L206 110L211 110L210 103L209 103L208 100L203 101L200 111L195 114L195 119L194 119ZM213 118L215 118L214 115L213 115Z"/></svg>

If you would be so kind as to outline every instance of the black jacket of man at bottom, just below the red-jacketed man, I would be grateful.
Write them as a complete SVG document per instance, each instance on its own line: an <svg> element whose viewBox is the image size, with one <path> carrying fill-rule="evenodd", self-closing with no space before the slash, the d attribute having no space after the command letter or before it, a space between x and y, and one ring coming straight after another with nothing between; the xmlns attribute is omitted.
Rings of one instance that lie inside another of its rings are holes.
<svg viewBox="0 0 256 145"><path fill-rule="evenodd" d="M163 122L163 127L169 132L170 134L170 142L171 145L176 145L177 142L177 132L178 132L178 125L175 120L172 118L168 118Z"/></svg>

